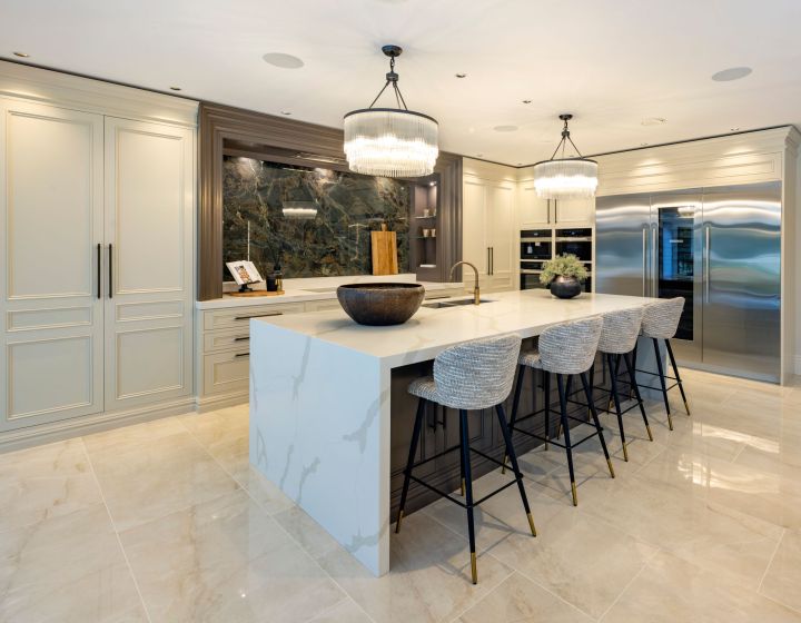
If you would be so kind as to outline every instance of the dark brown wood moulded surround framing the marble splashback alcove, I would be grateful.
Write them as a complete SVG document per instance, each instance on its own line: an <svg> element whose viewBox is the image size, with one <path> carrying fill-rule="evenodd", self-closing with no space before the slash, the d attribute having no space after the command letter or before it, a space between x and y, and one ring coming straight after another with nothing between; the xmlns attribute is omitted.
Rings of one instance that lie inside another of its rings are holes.
<svg viewBox="0 0 801 623"><path fill-rule="evenodd" d="M222 296L222 156L247 152L269 160L307 167L346 170L343 131L285 117L201 102L198 140L198 299ZM462 258L462 157L441 152L435 167L439 174L442 220L437 274L429 280L444 281L451 265Z"/></svg>

